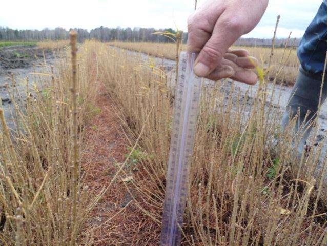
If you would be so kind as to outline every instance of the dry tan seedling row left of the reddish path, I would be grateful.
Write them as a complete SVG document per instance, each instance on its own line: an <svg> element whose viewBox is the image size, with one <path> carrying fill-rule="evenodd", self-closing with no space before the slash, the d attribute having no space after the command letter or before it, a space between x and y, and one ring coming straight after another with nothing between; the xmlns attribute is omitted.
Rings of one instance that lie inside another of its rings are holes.
<svg viewBox="0 0 328 246"><path fill-rule="evenodd" d="M57 58L56 73L48 67L32 88L25 81L25 92L11 91L15 129L8 129L0 108L1 244L75 245L91 237L82 226L101 193L91 194L81 183L85 145L73 153L93 115L96 66L89 63L93 54L81 47L71 91L69 51Z"/></svg>

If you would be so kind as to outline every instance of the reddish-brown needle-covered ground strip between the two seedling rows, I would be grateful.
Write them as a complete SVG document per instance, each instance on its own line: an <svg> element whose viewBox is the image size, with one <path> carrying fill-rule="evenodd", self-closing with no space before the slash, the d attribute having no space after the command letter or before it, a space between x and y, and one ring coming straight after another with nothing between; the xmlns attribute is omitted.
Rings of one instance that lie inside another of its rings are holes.
<svg viewBox="0 0 328 246"><path fill-rule="evenodd" d="M129 152L120 119L115 114L115 103L104 93L106 89L101 88L96 98L96 107L101 113L85 130L90 147L82 162L84 183L95 193L108 187ZM138 172L128 175L138 175ZM125 173L117 176L91 214L86 231L93 232L93 245L157 245L157 239L149 235L154 235L158 227L151 220L145 223L148 217L141 213L131 196L133 186L122 181L126 177Z"/></svg>

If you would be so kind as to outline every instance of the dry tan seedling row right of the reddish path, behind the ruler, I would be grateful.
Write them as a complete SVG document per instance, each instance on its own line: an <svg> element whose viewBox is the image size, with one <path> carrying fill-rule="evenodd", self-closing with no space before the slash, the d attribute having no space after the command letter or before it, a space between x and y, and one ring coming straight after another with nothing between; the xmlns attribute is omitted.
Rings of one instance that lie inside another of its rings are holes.
<svg viewBox="0 0 328 246"><path fill-rule="evenodd" d="M98 44L95 53L101 81L118 103L132 143L146 126L139 139L143 157L140 171L132 173L133 189L145 223L157 227L136 237L156 240L172 127L172 88L166 72L151 59L144 61L106 44ZM229 81L203 87L182 245L324 245L326 170L313 179L321 147L297 159L290 130L295 120L286 132L279 129L281 112L266 103L273 94L266 84L261 81L251 100L234 91Z"/></svg>

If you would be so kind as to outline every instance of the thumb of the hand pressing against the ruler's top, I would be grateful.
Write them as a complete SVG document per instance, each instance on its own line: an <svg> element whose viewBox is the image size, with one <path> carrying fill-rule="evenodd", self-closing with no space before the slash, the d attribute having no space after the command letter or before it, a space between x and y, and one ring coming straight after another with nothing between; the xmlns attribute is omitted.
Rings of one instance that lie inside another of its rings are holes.
<svg viewBox="0 0 328 246"><path fill-rule="evenodd" d="M196 59L194 72L199 77L206 77L217 68L228 48L241 36L240 23L231 18L227 20L223 15Z"/></svg>

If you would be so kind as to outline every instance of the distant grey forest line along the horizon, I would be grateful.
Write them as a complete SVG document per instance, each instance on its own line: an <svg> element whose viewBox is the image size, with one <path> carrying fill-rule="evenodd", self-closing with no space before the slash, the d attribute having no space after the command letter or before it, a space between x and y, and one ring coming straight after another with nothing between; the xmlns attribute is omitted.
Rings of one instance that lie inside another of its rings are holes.
<svg viewBox="0 0 328 246"><path fill-rule="evenodd" d="M57 27L55 29L45 28L43 30L15 30L8 27L0 27L0 40L60 40L68 39L70 30ZM119 41L131 41L131 42L172 42L169 38L162 35L154 35L154 32L171 32L176 33L175 30L168 29L155 29L155 28L108 28L98 27L88 31L87 29L74 28L78 33L79 42L83 42L85 39L97 39L103 42L119 40ZM183 35L183 42L187 42L187 33ZM278 47L284 47L287 38L276 39L275 45ZM299 38L291 39L288 46L297 47L300 42ZM245 46L271 46L272 39L270 38L239 38L236 45Z"/></svg>

